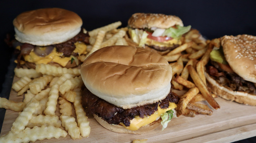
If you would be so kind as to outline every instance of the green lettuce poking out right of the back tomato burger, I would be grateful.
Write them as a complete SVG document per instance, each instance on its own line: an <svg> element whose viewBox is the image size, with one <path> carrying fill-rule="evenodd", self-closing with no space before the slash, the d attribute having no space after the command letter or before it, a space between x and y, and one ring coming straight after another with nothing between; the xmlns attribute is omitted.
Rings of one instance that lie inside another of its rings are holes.
<svg viewBox="0 0 256 143"><path fill-rule="evenodd" d="M162 36L172 37L174 39L179 40L181 39L182 34L185 34L186 32L188 32L190 28L191 28L191 25L188 25L185 27L177 25L177 29L173 27L165 29Z"/></svg>

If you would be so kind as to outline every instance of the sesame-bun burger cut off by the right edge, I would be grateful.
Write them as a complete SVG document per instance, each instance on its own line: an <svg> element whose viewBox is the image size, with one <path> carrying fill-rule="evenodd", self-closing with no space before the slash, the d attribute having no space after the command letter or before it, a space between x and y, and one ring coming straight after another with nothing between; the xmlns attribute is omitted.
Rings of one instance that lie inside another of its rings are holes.
<svg viewBox="0 0 256 143"><path fill-rule="evenodd" d="M206 65L213 93L238 103L256 105L256 37L224 36Z"/></svg>

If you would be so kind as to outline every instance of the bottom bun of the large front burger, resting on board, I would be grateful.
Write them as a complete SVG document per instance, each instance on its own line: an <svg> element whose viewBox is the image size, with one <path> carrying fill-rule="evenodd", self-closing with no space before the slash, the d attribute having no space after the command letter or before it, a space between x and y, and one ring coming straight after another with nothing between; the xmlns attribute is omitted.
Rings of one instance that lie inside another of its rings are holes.
<svg viewBox="0 0 256 143"><path fill-rule="evenodd" d="M113 125L113 124L109 124L106 121L104 121L103 119L101 119L101 117L98 117L97 115L93 114L94 118L96 119L96 121L103 126L104 128L116 132L116 133L125 133L125 134L143 134L143 133L148 133L150 131L155 130L157 127L160 126L161 124L161 118L146 125L146 126L142 126L140 127L138 130L136 131L132 131L132 130L128 130L126 129L124 126L122 125Z"/></svg>

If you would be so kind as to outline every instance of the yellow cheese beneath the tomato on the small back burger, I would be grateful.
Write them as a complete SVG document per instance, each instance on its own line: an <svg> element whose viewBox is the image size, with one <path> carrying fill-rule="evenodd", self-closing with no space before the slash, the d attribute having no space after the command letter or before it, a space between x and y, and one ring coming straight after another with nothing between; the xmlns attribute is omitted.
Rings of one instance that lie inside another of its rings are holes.
<svg viewBox="0 0 256 143"><path fill-rule="evenodd" d="M168 41L159 42L159 41L147 38L146 44L147 45L156 45L159 47L170 47L174 44L181 45L181 40L172 39L172 40L168 40Z"/></svg>

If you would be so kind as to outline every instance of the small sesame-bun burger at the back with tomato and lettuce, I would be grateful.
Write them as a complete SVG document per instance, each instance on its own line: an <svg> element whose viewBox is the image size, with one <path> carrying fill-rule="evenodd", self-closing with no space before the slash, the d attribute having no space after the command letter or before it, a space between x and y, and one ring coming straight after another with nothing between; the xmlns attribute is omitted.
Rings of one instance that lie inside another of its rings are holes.
<svg viewBox="0 0 256 143"><path fill-rule="evenodd" d="M172 50L181 45L182 34L191 26L183 27L181 19L174 15L135 13L128 20L129 35L139 46L157 51Z"/></svg>

